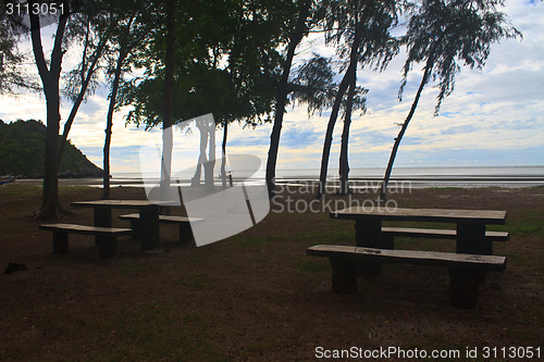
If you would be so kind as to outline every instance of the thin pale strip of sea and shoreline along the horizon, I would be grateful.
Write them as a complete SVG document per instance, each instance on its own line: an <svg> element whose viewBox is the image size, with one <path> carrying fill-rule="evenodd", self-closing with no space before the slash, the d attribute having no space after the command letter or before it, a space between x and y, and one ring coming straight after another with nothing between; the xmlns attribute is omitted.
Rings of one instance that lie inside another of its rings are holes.
<svg viewBox="0 0 544 362"><path fill-rule="evenodd" d="M327 184L338 183L336 170L327 173ZM353 168L349 172L350 184L355 187L379 188L384 175L384 168ZM176 185L187 186L191 173L176 174ZM264 173L233 171L235 182L246 185L264 185ZM277 185L306 185L316 183L319 170L277 170ZM219 175L215 175L220 182ZM87 179L90 186L100 186L101 179ZM114 173L111 185L123 187L141 187L146 183L158 183L159 175L140 173ZM409 184L412 188L474 188L474 187L534 187L544 185L544 166L493 166L493 167L395 167L390 179L391 184Z"/></svg>

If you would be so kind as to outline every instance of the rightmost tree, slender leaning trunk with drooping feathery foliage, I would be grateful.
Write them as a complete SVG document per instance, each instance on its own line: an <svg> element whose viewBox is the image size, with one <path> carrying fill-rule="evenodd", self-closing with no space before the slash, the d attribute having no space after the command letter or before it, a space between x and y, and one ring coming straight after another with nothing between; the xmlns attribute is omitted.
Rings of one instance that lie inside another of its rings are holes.
<svg viewBox="0 0 544 362"><path fill-rule="evenodd" d="M504 38L516 38L521 34L507 24L504 13L496 10L502 1L495 0L424 0L419 11L410 17L406 34L408 58L403 70L401 97L408 73L415 62L424 62L423 76L413 98L410 111L395 138L387 168L380 189L380 199L385 201L387 184L400 140L416 113L421 92L431 77L438 79L438 96L435 115L445 97L454 91L455 75L460 71L459 62L470 68L483 68L491 45Z"/></svg>

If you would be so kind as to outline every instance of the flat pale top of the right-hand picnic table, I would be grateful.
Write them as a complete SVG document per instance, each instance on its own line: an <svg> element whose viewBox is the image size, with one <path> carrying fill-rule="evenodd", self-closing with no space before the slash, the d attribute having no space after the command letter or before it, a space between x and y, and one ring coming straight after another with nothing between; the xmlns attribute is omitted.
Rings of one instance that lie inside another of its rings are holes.
<svg viewBox="0 0 544 362"><path fill-rule="evenodd" d="M506 223L506 211L353 207L331 212L331 217L368 221L426 221L435 223L481 223L504 225Z"/></svg>

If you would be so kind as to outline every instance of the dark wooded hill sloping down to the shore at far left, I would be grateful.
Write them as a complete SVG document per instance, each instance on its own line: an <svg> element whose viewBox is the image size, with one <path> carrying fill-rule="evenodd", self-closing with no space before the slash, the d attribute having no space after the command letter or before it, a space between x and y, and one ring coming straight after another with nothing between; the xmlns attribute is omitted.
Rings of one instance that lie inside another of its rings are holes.
<svg viewBox="0 0 544 362"><path fill-rule="evenodd" d="M46 126L35 120L0 120L0 175L44 177ZM101 177L102 170L69 140L59 167L60 177Z"/></svg>

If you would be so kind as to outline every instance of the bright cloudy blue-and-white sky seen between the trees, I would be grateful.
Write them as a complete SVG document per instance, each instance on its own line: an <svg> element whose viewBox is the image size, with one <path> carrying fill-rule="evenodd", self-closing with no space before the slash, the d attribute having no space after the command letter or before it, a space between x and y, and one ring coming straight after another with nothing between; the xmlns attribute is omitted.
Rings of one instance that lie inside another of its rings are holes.
<svg viewBox="0 0 544 362"><path fill-rule="evenodd" d="M429 84L417 112L400 143L397 167L454 166L530 166L544 165L544 2L507 0L503 11L523 39L508 39L492 46L483 70L462 67L456 76L455 91L433 116L438 90ZM44 33L47 33L47 28ZM28 43L27 43L28 45ZM21 50L24 47L21 48ZM312 52L333 55L321 38L301 43L297 61ZM46 48L46 54L48 53ZM416 64L408 77L403 101L397 98L405 53L394 59L387 70L376 73L358 71L358 83L369 89L366 114L355 112L350 128L349 163L351 168L385 167L419 86L422 65ZM63 70L75 64L70 52ZM30 72L37 76L36 67ZM82 104L70 139L90 161L102 166L102 149L108 111L107 89L88 97ZM71 102L63 100L61 116L67 118ZM114 115L111 143L112 174L138 172L139 149L153 135L125 125L127 109ZM320 167L329 112L309 116L305 105L289 107L285 114L279 170ZM45 98L21 92L0 96L0 118L46 121ZM343 123L338 118L333 137L330 172L337 168ZM62 127L62 124L61 124ZM232 124L227 152L257 155L267 160L271 124L243 129ZM218 130L218 142L221 141ZM156 136L156 135L154 135ZM183 137L182 135L177 137Z"/></svg>

